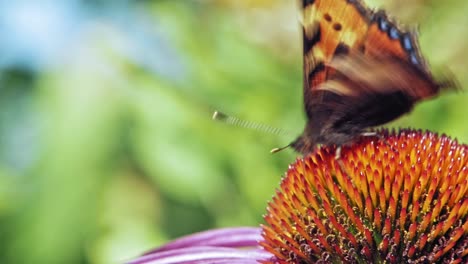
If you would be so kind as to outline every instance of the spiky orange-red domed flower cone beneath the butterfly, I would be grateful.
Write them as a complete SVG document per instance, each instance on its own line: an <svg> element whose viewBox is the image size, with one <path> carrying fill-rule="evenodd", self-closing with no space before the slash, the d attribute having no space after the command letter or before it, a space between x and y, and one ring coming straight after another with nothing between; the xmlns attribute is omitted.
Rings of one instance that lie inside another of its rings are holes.
<svg viewBox="0 0 468 264"><path fill-rule="evenodd" d="M265 216L265 263L468 263L468 146L378 133L290 166Z"/></svg>

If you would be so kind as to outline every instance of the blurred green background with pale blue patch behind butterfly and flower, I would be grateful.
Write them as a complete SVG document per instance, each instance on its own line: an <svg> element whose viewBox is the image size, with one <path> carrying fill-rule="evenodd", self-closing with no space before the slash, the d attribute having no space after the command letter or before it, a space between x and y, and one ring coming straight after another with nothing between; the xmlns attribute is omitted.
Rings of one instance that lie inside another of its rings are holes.
<svg viewBox="0 0 468 264"><path fill-rule="evenodd" d="M468 86L468 2L367 1L419 24L423 53ZM257 226L298 156L295 0L2 1L0 263L118 263L169 239ZM468 141L468 95L390 126Z"/></svg>

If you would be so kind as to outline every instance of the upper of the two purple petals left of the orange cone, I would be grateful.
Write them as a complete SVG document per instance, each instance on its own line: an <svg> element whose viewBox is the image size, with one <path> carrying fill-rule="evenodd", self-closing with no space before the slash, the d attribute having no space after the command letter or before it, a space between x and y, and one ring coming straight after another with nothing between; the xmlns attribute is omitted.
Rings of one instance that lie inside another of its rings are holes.
<svg viewBox="0 0 468 264"><path fill-rule="evenodd" d="M220 228L176 239L162 247L145 253L145 255L195 246L256 247L261 239L261 229L258 227Z"/></svg>

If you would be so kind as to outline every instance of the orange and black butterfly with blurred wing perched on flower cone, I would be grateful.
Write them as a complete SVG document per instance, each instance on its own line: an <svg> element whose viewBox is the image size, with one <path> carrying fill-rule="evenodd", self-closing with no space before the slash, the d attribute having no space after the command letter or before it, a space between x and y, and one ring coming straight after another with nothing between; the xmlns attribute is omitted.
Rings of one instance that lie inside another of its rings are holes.
<svg viewBox="0 0 468 264"><path fill-rule="evenodd" d="M302 0L307 124L290 145L350 144L443 89L421 55L415 32L360 0ZM278 149L279 150L279 149Z"/></svg>

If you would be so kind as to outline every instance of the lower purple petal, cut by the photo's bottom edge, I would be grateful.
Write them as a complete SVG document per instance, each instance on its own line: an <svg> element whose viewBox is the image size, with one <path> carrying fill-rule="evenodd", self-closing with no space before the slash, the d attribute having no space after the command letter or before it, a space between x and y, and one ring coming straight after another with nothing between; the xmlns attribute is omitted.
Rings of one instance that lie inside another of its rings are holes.
<svg viewBox="0 0 468 264"><path fill-rule="evenodd" d="M222 247L188 247L155 252L144 255L128 264L224 264L258 263L259 260L271 259L272 255L262 249L234 249Z"/></svg>

